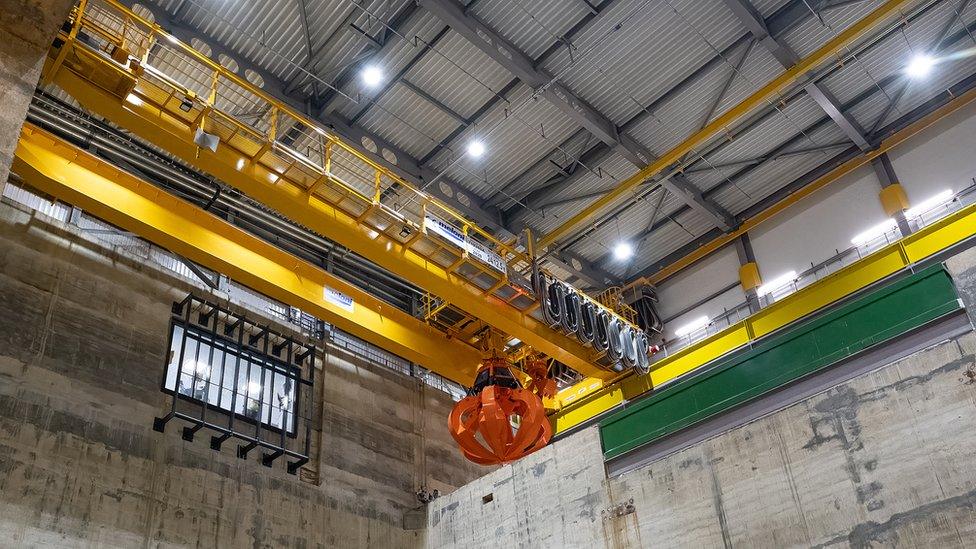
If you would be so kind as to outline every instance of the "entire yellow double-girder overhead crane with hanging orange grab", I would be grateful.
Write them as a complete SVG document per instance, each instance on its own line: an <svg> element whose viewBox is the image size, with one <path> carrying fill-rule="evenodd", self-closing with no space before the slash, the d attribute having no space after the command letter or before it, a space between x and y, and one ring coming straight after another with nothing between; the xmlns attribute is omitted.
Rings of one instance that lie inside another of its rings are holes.
<svg viewBox="0 0 976 549"><path fill-rule="evenodd" d="M22 136L17 169L29 184L471 385L451 432L479 463L517 459L552 436L546 357L601 380L649 366L647 335L612 304L541 270L531 234L521 247L500 241L116 0L81 0L42 82L428 290L422 321L38 128ZM509 368L515 356L499 354L499 335L524 344L521 372Z"/></svg>

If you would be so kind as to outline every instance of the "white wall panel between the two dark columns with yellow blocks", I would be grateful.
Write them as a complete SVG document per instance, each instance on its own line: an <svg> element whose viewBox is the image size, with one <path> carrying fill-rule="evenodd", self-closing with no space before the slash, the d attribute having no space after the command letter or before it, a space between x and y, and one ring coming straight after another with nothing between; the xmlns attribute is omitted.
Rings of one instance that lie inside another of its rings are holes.
<svg viewBox="0 0 976 549"><path fill-rule="evenodd" d="M803 272L851 246L851 238L886 216L870 166L834 181L750 233L764 280Z"/></svg>

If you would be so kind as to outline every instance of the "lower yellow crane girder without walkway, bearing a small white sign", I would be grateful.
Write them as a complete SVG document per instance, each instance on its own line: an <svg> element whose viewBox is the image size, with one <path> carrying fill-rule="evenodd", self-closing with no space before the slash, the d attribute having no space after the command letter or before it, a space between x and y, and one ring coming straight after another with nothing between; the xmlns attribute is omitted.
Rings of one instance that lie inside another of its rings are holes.
<svg viewBox="0 0 976 549"><path fill-rule="evenodd" d="M13 171L45 193L448 379L474 380L481 357L474 347L29 123ZM351 297L351 310L327 300L326 289Z"/></svg>

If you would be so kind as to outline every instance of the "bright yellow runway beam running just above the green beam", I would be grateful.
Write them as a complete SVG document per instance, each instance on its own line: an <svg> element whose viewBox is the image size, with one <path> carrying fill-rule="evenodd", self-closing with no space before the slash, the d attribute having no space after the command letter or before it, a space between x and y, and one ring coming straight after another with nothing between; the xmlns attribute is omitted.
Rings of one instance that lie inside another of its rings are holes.
<svg viewBox="0 0 976 549"><path fill-rule="evenodd" d="M976 204L954 212L749 318L653 363L648 375L628 375L606 385L599 380L587 379L560 391L553 403L558 411L550 419L556 432L579 425L973 236L976 236Z"/></svg>

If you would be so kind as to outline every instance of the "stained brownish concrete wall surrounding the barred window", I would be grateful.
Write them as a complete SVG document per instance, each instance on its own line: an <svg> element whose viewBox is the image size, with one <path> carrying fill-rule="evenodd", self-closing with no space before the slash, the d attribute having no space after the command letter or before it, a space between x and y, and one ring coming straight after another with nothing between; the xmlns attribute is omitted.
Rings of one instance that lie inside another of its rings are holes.
<svg viewBox="0 0 976 549"><path fill-rule="evenodd" d="M154 432L189 286L75 231L0 205L0 546L409 547L414 491L482 473L446 394L335 350L300 476Z"/></svg>

